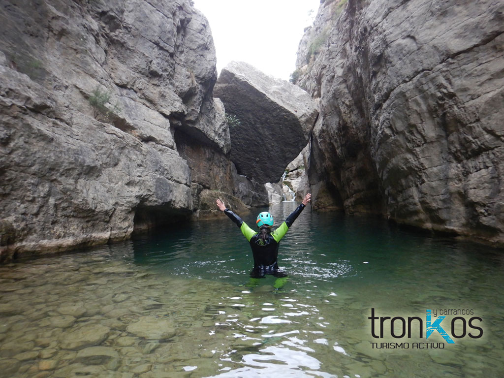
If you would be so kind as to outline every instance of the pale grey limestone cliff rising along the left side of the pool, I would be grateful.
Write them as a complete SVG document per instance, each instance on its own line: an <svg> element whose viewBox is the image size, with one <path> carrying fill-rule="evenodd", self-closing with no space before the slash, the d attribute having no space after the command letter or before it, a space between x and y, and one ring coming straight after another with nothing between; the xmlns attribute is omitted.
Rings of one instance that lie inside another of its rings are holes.
<svg viewBox="0 0 504 378"><path fill-rule="evenodd" d="M190 0L0 7L0 260L128 238L190 217L205 194L244 206ZM219 161L211 177L199 156Z"/></svg>

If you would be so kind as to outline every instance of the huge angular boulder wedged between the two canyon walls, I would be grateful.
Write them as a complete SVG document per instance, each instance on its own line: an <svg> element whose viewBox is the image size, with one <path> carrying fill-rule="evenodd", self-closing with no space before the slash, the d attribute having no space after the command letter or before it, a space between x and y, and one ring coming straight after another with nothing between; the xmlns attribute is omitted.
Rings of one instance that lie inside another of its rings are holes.
<svg viewBox="0 0 504 378"><path fill-rule="evenodd" d="M238 173L260 183L278 182L306 146L318 102L244 62L231 62L222 70L214 96L226 109L231 160Z"/></svg>

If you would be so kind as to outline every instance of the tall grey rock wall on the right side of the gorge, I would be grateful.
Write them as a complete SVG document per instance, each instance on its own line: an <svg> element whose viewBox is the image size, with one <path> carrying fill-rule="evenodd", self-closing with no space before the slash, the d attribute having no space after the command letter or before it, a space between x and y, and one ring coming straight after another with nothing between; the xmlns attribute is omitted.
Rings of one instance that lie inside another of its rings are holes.
<svg viewBox="0 0 504 378"><path fill-rule="evenodd" d="M321 99L313 188L349 213L504 243L504 3L340 3L321 5L297 63Z"/></svg>

